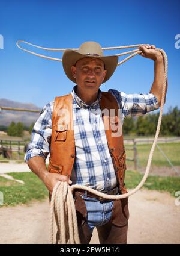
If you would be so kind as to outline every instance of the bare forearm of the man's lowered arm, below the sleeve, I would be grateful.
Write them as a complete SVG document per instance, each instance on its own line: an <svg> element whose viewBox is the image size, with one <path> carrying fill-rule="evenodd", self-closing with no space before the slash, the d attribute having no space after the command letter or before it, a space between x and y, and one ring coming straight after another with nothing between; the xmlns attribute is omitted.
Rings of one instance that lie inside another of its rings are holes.
<svg viewBox="0 0 180 256"><path fill-rule="evenodd" d="M46 182L46 176L48 170L46 167L46 163L43 157L32 157L28 161L28 166L42 181Z"/></svg>

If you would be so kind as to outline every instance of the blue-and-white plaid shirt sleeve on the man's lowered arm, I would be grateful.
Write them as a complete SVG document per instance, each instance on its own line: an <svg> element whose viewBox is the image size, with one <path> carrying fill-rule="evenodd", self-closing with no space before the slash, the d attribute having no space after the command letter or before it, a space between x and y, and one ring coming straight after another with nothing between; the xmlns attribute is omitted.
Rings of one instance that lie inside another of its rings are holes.
<svg viewBox="0 0 180 256"><path fill-rule="evenodd" d="M46 160L50 152L50 140L52 134L52 110L53 102L49 102L41 110L40 117L32 129L31 142L25 154L25 162L35 156L43 157Z"/></svg>

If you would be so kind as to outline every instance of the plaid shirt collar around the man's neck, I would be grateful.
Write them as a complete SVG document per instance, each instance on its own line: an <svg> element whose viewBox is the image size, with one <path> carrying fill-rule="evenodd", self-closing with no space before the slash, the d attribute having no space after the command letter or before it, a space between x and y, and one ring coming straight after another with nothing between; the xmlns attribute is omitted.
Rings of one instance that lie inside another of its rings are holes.
<svg viewBox="0 0 180 256"><path fill-rule="evenodd" d="M77 84L76 84L76 86L73 87L71 95L73 96L73 99L76 102L77 108L90 108L90 107L95 108L95 106L100 103L100 100L101 100L101 90L100 89L98 90L97 100L94 101L91 105L87 105L82 99L79 98L79 96L77 96L76 89L77 89Z"/></svg>

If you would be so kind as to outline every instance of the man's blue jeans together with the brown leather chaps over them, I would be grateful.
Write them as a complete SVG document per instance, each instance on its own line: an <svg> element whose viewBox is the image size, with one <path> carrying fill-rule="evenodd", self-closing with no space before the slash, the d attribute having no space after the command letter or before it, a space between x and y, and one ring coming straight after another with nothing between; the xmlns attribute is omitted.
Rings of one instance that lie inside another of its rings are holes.
<svg viewBox="0 0 180 256"><path fill-rule="evenodd" d="M80 243L90 242L94 227L101 244L127 243L128 198L99 201L86 193L74 193Z"/></svg>

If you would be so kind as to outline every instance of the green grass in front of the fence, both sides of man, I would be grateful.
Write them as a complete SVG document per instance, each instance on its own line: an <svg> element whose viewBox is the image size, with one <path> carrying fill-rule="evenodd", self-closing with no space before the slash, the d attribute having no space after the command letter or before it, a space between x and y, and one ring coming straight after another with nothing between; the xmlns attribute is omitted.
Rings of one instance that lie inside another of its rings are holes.
<svg viewBox="0 0 180 256"><path fill-rule="evenodd" d="M33 173L9 173L16 179L25 181L17 183L0 177L0 191L4 193L4 206L28 204L34 200L41 201L48 192L41 180ZM125 186L133 189L142 180L142 174L128 170L125 174ZM150 190L166 191L175 196L180 191L180 177L149 176L144 187Z"/></svg>

